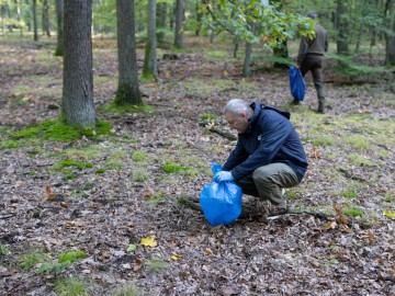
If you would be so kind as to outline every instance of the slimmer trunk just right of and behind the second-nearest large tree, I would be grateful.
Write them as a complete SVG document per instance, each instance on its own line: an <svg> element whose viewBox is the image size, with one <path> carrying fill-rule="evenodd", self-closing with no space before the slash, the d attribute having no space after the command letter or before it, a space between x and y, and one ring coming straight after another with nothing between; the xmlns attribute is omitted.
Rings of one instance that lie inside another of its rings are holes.
<svg viewBox="0 0 395 296"><path fill-rule="evenodd" d="M143 76L144 77L158 77L158 62L157 62L157 39L156 39L156 0L148 0L148 34L147 44L145 48Z"/></svg>

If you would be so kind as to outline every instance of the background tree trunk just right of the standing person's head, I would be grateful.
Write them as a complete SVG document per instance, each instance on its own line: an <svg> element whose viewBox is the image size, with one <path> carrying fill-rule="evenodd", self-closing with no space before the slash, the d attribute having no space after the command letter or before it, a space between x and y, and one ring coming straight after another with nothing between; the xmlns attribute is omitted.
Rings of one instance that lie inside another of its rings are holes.
<svg viewBox="0 0 395 296"><path fill-rule="evenodd" d="M337 0L337 30L339 36L337 39L337 53L338 55L348 55L349 48L349 23L347 20L348 0Z"/></svg>

